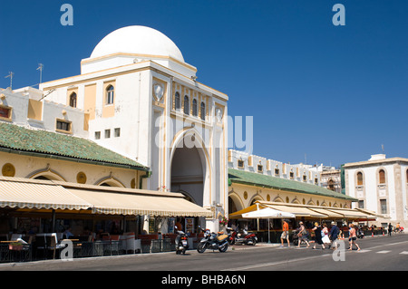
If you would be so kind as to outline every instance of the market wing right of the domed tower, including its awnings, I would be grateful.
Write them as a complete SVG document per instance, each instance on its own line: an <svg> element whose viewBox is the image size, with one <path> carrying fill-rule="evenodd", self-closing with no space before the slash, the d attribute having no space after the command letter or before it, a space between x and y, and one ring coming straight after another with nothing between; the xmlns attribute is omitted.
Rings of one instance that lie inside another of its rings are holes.
<svg viewBox="0 0 408 289"><path fill-rule="evenodd" d="M228 216L231 221L263 236L267 232L267 221L248 220L243 214L266 207L291 213L295 215L290 220L291 229L296 229L299 221L310 228L315 221L328 224L335 221L344 226L352 222L366 224L376 218L373 212L353 208L357 198L319 186L319 170L306 168L228 150ZM272 228L270 234L274 234L272 239L276 237L275 241L279 242L281 219L275 219L269 226ZM263 236L262 240L266 241L267 237Z"/></svg>

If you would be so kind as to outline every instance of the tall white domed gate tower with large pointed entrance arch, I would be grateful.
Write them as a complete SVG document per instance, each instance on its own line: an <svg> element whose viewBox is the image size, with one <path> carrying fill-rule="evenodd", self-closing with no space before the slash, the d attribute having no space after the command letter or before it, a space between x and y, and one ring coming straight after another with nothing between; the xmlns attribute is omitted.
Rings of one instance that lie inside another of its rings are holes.
<svg viewBox="0 0 408 289"><path fill-rule="evenodd" d="M95 46L80 75L40 90L47 101L84 111L90 140L150 168L143 188L183 193L214 212L203 226L217 230L228 211L228 96L196 73L166 35L128 26ZM61 120L80 133L73 118Z"/></svg>

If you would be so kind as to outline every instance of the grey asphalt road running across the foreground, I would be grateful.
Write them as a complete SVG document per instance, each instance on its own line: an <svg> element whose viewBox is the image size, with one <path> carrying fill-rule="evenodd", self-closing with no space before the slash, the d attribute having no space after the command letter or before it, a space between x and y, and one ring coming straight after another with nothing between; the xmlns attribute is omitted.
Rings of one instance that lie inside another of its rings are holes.
<svg viewBox="0 0 408 289"><path fill-rule="evenodd" d="M121 255L75 259L48 260L26 264L3 264L0 271L248 271L335 270L387 271L408 270L408 234L366 237L358 241L362 251L337 254L344 261L335 261L333 251L310 247L235 246L226 253L191 250L186 255L171 253ZM348 244L347 244L348 247ZM161 274L162 275L162 274Z"/></svg>

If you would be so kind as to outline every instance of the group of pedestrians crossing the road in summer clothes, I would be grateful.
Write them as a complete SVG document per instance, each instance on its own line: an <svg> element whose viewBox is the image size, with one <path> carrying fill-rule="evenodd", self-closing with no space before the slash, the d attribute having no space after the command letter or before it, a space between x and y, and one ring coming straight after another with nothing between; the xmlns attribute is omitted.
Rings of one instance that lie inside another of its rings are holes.
<svg viewBox="0 0 408 289"><path fill-rule="evenodd" d="M287 221L283 222L282 226L283 232L282 235L280 236L282 245L281 247L284 246L284 240L287 239L287 246L290 247L290 242L289 242L289 226L287 224ZM303 222L299 222L299 228L297 230L296 236L298 237L298 242L297 242L297 247L300 247L300 245L305 242L306 247L310 246L310 243L314 242L313 249L316 249L316 245L319 245L322 247L322 249L325 249L325 246L328 248L331 248L333 250L337 249L337 240L339 236L342 234L342 231L339 229L338 226L335 225L335 222L331 223L331 228L330 230L327 228L327 225L323 223L322 226L320 226L317 222L315 223L315 227L312 229L312 231L315 232L315 241L309 241L309 232L306 229L306 226L303 224ZM354 224L349 224L349 248L348 250L353 250L353 246L357 247L357 251L360 251L361 248L358 246L356 243L357 240L357 231L355 229Z"/></svg>

